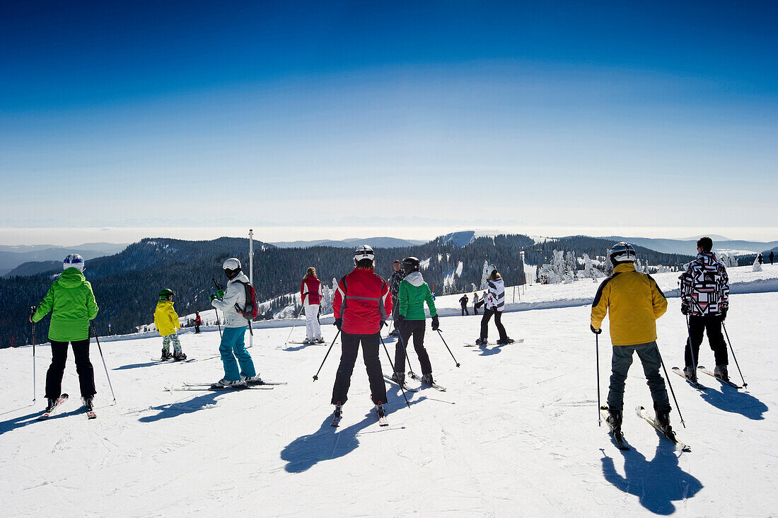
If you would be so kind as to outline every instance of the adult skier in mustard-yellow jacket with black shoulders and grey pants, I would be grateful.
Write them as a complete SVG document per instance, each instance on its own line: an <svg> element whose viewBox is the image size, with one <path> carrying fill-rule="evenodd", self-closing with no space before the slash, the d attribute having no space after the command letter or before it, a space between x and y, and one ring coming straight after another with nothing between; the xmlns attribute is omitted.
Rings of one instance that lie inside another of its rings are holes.
<svg viewBox="0 0 778 518"><path fill-rule="evenodd" d="M635 248L626 242L616 243L610 252L613 274L606 278L591 305L592 333L600 334L602 320L610 311L613 344L611 386L608 392L608 424L614 435L621 435L624 407L624 385L632 365L633 352L643 364L656 422L665 432L670 426L670 400L659 374L661 356L657 348L657 319L668 309L668 301L656 281L647 273L635 271Z"/></svg>

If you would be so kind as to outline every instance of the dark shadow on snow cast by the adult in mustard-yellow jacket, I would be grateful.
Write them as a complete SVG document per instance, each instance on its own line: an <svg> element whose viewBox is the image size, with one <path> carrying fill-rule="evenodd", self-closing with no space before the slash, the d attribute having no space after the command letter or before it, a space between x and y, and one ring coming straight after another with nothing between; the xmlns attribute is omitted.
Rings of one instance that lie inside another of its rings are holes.
<svg viewBox="0 0 778 518"><path fill-rule="evenodd" d="M676 510L673 502L692 498L703 483L678 466L675 446L665 439L659 441L652 460L634 448L619 450L624 457L623 477L616 471L613 459L603 456L602 474L616 488L638 497L640 505L651 513L670 515Z"/></svg>

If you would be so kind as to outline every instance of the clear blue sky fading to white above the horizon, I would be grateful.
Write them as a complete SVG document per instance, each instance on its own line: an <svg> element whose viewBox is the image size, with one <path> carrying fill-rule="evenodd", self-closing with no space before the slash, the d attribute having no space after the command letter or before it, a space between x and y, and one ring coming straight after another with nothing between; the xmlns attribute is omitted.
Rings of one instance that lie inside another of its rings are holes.
<svg viewBox="0 0 778 518"><path fill-rule="evenodd" d="M309 239L776 239L776 15L776 2L2 2L0 241L285 225Z"/></svg>

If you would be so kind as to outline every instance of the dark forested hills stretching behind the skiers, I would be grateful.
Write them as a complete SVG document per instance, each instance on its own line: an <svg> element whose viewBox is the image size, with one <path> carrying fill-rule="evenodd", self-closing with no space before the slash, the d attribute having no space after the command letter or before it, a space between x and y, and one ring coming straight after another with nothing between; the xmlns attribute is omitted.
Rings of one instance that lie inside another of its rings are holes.
<svg viewBox="0 0 778 518"><path fill-rule="evenodd" d="M429 263L422 270L426 281L437 294L471 291L472 284L481 282L484 262L494 263L506 284L521 284L525 261L542 264L552 257L554 249L572 250L577 256L587 253L603 259L612 241L574 236L536 244L520 234L476 238L459 247L436 238L424 245L402 248L376 248L377 273L386 278L391 263L415 255ZM644 262L651 265L680 266L688 262L686 255L653 252L637 247ZM92 283L100 305L95 325L100 333L107 332L110 322L113 333L134 333L137 326L153 320L157 293L169 287L176 293L175 303L180 315L210 308L212 277L225 283L221 265L224 259L236 256L248 267L248 240L219 238L213 241L182 241L167 238L146 238L129 245L116 255L86 262L86 278ZM461 263L461 268L460 268ZM325 284L340 278L352 267L349 249L317 246L311 248L275 248L254 241L254 287L261 301L296 292L305 270L314 266ZM16 344L30 343L31 326L27 322L30 306L37 305L58 270L28 277L0 279L0 347L9 347L11 337ZM456 273L456 275L454 274ZM445 282L444 282L445 280ZM288 304L279 299L275 306ZM264 315L267 318L269 315ZM36 326L37 337L47 337L48 317Z"/></svg>

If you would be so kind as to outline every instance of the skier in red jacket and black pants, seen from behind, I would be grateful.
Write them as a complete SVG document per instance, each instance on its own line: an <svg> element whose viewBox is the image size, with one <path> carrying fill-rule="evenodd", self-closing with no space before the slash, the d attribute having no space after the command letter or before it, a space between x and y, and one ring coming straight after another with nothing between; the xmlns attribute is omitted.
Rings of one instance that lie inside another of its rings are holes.
<svg viewBox="0 0 778 518"><path fill-rule="evenodd" d="M335 385L332 387L334 417L339 419L342 406L348 399L354 363L362 344L362 357L370 379L370 399L375 404L378 418L384 418L387 402L386 384L378 358L380 329L392 311L389 285L375 273L375 253L369 245L354 251L354 270L338 281L332 309L335 326L341 331L341 360Z"/></svg>

